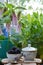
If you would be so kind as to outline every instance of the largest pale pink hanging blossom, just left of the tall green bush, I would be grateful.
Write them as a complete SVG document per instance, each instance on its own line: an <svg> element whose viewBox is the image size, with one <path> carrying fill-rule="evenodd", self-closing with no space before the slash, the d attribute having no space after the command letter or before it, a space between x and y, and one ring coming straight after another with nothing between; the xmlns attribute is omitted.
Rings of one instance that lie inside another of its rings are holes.
<svg viewBox="0 0 43 65"><path fill-rule="evenodd" d="M20 24L18 23L18 18L15 14L15 12L13 12L12 14L12 25L16 31L16 33L19 33L20 32Z"/></svg>

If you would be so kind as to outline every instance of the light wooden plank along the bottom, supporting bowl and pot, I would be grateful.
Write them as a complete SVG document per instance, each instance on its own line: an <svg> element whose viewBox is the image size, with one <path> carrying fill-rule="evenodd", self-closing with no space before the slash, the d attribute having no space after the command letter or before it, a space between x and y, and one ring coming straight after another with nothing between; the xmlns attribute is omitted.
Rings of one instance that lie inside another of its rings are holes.
<svg viewBox="0 0 43 65"><path fill-rule="evenodd" d="M15 64L15 63L30 64L30 63L41 63L42 60L35 58L33 61L30 61L30 60L29 60L29 61L26 61L26 60L24 60L24 59L20 59L20 60L18 60L18 61L8 61L8 58L5 58L5 59L2 59L2 62L3 62L4 64L7 64L7 63L13 63L13 64Z"/></svg>

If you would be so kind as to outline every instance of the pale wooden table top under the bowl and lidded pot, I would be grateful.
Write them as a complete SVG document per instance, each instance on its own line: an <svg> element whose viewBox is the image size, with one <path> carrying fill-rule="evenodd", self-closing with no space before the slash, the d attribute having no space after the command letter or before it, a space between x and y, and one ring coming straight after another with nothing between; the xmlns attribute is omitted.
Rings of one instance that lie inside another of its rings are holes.
<svg viewBox="0 0 43 65"><path fill-rule="evenodd" d="M24 60L24 57L21 57L20 60L18 61L8 61L8 58L2 59L2 63L4 64L8 64L10 63L11 65L16 65L16 64L32 64L32 63L36 63L37 65L40 65L40 63L42 62L41 59L35 58L33 61L26 61Z"/></svg>

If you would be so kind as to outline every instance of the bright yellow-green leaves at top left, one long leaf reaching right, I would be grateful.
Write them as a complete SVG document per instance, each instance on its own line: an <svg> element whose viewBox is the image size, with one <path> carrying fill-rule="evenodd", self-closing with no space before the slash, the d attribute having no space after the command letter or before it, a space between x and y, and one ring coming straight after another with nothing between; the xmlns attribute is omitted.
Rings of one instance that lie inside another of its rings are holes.
<svg viewBox="0 0 43 65"><path fill-rule="evenodd" d="M5 3L4 5L6 8L6 11L3 13L3 16L12 15L12 13L15 12L15 10L17 10L17 9L25 10L25 8L22 6L15 6L15 5L9 4L9 3Z"/></svg>

